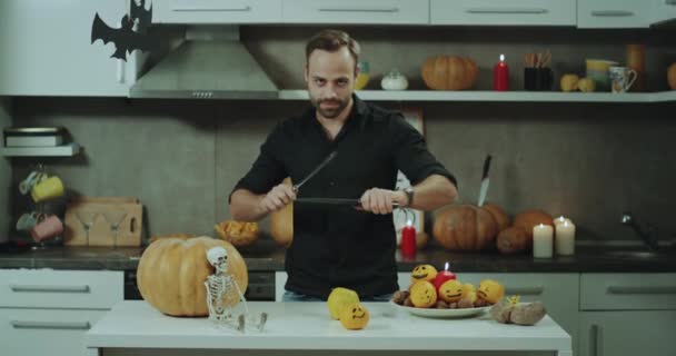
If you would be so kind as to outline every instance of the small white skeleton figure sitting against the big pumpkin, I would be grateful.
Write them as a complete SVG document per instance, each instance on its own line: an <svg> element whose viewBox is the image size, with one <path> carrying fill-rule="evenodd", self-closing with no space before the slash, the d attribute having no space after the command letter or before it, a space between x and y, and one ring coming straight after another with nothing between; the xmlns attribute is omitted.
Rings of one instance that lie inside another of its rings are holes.
<svg viewBox="0 0 676 356"><path fill-rule="evenodd" d="M228 273L228 251L220 246L212 247L207 250L207 260L216 269L205 281L209 319L219 326L236 325L237 330L242 333L247 326L252 326L262 332L268 314L261 313L258 317L249 316L247 299L245 299L237 280ZM230 306L223 305L223 300L239 300L239 303ZM243 310L239 312L236 308L242 308Z"/></svg>

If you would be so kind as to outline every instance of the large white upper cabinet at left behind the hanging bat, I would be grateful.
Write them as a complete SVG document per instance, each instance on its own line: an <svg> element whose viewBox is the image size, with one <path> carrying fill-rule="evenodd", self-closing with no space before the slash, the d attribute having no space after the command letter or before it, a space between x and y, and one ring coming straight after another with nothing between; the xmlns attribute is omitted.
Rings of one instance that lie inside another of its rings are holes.
<svg viewBox="0 0 676 356"><path fill-rule="evenodd" d="M119 28L126 1L7 0L0 4L0 96L127 97L137 56L91 43L96 13Z"/></svg>

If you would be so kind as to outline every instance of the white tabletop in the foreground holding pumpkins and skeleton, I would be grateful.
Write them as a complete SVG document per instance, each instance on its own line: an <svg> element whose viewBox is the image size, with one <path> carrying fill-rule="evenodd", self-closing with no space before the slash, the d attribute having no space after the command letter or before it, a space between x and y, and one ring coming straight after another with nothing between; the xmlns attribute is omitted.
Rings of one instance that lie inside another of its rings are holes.
<svg viewBox="0 0 676 356"><path fill-rule="evenodd" d="M433 319L387 303L365 303L370 322L347 330L325 303L249 303L267 312L265 330L217 328L207 318L162 315L145 300L117 304L84 336L88 356L99 355L449 355L457 352L539 350L571 356L570 336L546 316L535 326L499 324L488 313ZM227 350L227 353L223 353ZM411 352L415 352L411 353Z"/></svg>

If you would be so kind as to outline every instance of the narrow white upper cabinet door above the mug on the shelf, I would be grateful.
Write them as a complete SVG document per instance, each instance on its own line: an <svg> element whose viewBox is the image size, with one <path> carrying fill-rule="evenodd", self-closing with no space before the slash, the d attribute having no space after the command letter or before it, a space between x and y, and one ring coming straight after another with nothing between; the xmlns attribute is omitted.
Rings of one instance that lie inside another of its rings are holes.
<svg viewBox="0 0 676 356"><path fill-rule="evenodd" d="M647 28L650 4L636 0L577 0L578 28Z"/></svg>

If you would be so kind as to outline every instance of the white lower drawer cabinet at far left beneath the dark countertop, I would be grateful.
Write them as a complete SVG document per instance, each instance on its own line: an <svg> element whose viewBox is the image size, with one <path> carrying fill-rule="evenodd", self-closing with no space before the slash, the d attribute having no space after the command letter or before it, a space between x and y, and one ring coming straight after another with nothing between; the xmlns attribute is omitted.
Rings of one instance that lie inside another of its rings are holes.
<svg viewBox="0 0 676 356"><path fill-rule="evenodd" d="M84 353L84 333L123 299L123 271L0 269L0 345L7 355Z"/></svg>

